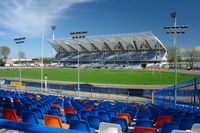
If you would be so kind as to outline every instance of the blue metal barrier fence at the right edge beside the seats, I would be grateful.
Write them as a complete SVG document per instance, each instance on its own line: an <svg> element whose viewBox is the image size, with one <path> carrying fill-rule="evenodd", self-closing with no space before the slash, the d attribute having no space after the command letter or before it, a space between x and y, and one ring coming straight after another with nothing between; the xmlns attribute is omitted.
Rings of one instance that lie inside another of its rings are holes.
<svg viewBox="0 0 200 133"><path fill-rule="evenodd" d="M154 104L175 109L200 112L200 76L177 85L157 90Z"/></svg>

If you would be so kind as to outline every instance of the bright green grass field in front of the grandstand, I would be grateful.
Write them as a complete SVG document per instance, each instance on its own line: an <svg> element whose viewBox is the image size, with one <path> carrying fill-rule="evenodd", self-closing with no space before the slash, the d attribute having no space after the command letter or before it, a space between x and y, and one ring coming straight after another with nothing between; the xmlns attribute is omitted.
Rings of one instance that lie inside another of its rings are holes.
<svg viewBox="0 0 200 133"><path fill-rule="evenodd" d="M40 69L22 69L22 78L40 79ZM77 69L44 69L48 80L77 81ZM178 82L198 76L197 74L178 73ZM19 77L18 69L0 70L0 77ZM174 72L143 70L105 70L81 69L80 82L124 85L168 85L174 83Z"/></svg>

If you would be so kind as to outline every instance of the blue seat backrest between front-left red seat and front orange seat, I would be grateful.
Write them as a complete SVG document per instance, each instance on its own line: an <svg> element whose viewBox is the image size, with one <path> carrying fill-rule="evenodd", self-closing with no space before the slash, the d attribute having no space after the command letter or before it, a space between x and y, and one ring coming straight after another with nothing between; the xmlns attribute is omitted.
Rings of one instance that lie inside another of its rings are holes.
<svg viewBox="0 0 200 133"><path fill-rule="evenodd" d="M39 124L35 112L22 112L22 122L28 122L33 124Z"/></svg>

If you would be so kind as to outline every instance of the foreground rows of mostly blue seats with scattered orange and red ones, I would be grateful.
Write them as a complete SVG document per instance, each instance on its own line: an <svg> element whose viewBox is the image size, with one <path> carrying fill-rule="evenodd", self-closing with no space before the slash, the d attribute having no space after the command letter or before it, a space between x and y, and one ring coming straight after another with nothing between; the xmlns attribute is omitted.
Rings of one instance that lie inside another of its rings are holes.
<svg viewBox="0 0 200 133"><path fill-rule="evenodd" d="M19 94L3 90L0 99L3 119L86 132L101 131L104 123L117 124L124 133L142 130L169 133L190 130L199 120L198 113L153 104ZM184 115L183 119L178 115Z"/></svg>

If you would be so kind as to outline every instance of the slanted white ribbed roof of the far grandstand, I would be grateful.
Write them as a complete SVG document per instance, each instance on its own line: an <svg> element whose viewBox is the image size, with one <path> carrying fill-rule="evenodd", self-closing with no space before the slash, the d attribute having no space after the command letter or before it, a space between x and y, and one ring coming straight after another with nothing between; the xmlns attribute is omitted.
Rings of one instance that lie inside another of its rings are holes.
<svg viewBox="0 0 200 133"><path fill-rule="evenodd" d="M151 32L88 36L81 39L61 38L48 40L57 52L115 52L166 50Z"/></svg>

